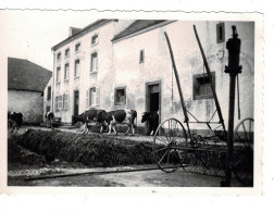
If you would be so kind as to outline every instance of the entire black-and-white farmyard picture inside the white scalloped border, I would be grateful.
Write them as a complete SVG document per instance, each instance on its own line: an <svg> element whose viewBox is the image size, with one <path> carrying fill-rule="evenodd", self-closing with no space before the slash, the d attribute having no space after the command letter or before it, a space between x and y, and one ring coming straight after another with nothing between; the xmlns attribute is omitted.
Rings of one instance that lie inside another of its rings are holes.
<svg viewBox="0 0 274 212"><path fill-rule="evenodd" d="M8 187L256 186L256 20L64 13L2 11Z"/></svg>

